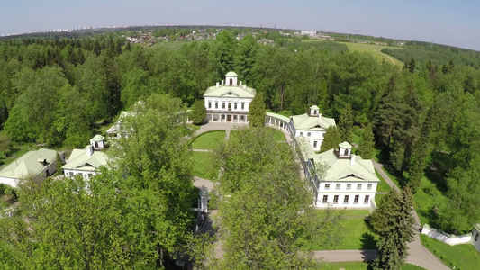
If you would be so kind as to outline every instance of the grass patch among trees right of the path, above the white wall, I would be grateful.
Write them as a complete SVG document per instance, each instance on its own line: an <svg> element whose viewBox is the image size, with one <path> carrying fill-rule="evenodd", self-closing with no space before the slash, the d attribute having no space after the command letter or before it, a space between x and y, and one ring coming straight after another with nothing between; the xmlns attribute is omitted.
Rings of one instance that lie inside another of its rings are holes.
<svg viewBox="0 0 480 270"><path fill-rule="evenodd" d="M434 208L443 209L448 205L448 198L426 177L421 178L421 188L415 193L413 203L421 224L428 223L430 226L438 228L437 213Z"/></svg>

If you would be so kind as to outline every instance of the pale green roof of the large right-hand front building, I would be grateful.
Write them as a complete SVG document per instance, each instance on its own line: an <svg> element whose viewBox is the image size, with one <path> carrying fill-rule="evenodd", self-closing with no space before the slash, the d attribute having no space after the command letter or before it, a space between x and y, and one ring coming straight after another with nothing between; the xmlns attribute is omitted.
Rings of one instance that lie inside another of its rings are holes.
<svg viewBox="0 0 480 270"><path fill-rule="evenodd" d="M336 149L331 149L318 155L314 155L315 163L325 162L330 166L323 181L337 182L380 182L375 174L372 160L365 160L362 157L351 155L355 158L352 165L349 158L339 158L335 154Z"/></svg>

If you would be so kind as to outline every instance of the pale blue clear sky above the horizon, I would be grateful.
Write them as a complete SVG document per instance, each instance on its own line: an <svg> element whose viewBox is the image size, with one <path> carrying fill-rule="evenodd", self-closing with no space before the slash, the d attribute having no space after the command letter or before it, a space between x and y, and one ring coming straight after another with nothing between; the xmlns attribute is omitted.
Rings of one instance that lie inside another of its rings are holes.
<svg viewBox="0 0 480 270"><path fill-rule="evenodd" d="M276 27L480 50L480 1L0 0L0 35L120 25Z"/></svg>

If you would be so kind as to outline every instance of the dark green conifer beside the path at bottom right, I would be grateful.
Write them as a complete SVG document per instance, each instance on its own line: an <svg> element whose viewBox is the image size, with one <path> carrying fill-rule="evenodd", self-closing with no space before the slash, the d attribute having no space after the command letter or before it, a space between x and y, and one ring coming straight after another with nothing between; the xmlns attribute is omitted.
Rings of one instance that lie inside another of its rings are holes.
<svg viewBox="0 0 480 270"><path fill-rule="evenodd" d="M374 269L401 269L408 256L408 243L413 240L412 193L392 190L385 195L370 222L380 236Z"/></svg>

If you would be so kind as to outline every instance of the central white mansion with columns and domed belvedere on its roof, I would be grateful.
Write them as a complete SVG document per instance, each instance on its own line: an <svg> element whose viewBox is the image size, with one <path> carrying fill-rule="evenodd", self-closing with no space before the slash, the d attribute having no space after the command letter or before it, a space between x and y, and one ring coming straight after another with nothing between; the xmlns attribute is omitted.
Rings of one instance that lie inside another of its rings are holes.
<svg viewBox="0 0 480 270"><path fill-rule="evenodd" d="M248 122L249 105L256 90L238 81L229 72L222 83L209 87L204 94L207 121Z"/></svg>

